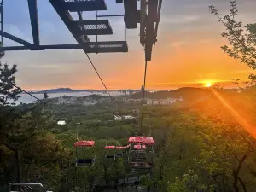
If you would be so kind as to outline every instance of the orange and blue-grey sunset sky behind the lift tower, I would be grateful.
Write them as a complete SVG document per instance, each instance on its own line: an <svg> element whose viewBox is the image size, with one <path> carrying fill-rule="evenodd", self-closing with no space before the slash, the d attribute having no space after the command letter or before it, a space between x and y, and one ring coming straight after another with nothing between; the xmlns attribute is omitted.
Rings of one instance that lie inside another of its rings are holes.
<svg viewBox="0 0 256 192"><path fill-rule="evenodd" d="M220 82L230 85L231 79L246 79L250 68L229 58L220 49L226 44L221 33L224 27L210 14L214 5L221 14L228 14L230 0L163 0L158 42L152 61L148 61L149 90L171 90L185 86L203 86ZM106 1L108 11L99 14L123 14L121 4ZM244 24L256 22L255 0L237 0L239 17ZM15 13L15 14L14 14ZM92 13L94 15L94 13ZM91 14L84 17L92 19ZM76 19L76 15L74 15ZM47 0L38 0L40 44L76 44L72 34ZM99 40L122 41L123 18L109 19L113 35ZM26 0L3 3L3 31L32 43ZM127 30L128 53L90 54L109 90L140 89L143 84L144 53L137 29ZM90 38L94 41L94 37ZM4 39L6 46L19 45ZM60 87L103 90L100 79L82 50L8 51L2 63L16 63L17 84L26 90Z"/></svg>

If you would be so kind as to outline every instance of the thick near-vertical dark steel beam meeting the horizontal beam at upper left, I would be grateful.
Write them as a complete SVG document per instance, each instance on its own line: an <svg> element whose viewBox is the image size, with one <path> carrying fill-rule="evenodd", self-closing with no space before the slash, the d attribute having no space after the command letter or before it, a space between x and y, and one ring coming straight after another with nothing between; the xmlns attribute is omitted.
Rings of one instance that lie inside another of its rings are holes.
<svg viewBox="0 0 256 192"><path fill-rule="evenodd" d="M39 45L37 0L27 0L34 44Z"/></svg>

